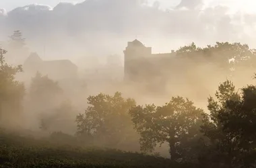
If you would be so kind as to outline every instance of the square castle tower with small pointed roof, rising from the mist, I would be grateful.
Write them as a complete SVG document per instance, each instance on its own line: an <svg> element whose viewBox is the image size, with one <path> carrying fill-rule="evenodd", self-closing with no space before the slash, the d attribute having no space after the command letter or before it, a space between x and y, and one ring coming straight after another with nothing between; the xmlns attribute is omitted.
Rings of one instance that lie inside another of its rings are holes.
<svg viewBox="0 0 256 168"><path fill-rule="evenodd" d="M137 81L135 77L139 73L139 61L152 54L152 48L144 46L139 40L128 42L123 51L125 54L125 81Z"/></svg>

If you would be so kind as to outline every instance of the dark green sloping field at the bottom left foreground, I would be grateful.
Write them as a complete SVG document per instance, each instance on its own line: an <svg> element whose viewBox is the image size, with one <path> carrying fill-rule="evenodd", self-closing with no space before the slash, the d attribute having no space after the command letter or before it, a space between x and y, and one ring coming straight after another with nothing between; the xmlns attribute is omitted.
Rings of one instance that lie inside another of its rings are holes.
<svg viewBox="0 0 256 168"><path fill-rule="evenodd" d="M181 167L169 159L1 134L0 167ZM183 167L186 167L183 165Z"/></svg>

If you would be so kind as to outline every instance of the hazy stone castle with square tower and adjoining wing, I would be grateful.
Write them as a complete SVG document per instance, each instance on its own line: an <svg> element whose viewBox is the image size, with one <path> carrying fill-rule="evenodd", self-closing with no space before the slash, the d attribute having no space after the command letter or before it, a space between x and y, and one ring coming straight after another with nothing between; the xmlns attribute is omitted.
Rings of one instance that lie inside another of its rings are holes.
<svg viewBox="0 0 256 168"><path fill-rule="evenodd" d="M124 54L125 81L164 83L166 75L181 66L173 50L170 53L152 54L152 48L144 46L137 39L128 42Z"/></svg>

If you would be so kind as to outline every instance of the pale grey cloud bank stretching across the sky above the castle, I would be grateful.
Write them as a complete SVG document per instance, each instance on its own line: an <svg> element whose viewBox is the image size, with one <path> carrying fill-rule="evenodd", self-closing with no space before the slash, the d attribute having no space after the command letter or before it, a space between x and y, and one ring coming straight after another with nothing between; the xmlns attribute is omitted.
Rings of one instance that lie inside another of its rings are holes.
<svg viewBox="0 0 256 168"><path fill-rule="evenodd" d="M59 3L53 8L28 5L0 19L1 31L8 36L12 30L21 30L33 51L42 53L46 44L46 55L55 58L123 54L127 41L136 37L152 46L154 52L169 52L192 41L199 45L216 41L255 45L251 32L255 30L256 15L231 15L229 7L223 5L203 8L201 0L183 0L178 8L169 10L159 9L159 3L141 3L86 0Z"/></svg>

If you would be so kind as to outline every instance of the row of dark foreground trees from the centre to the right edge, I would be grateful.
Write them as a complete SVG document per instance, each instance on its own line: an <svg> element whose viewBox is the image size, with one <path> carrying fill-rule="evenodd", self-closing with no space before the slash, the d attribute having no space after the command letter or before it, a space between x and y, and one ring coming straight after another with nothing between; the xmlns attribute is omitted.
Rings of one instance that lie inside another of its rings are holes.
<svg viewBox="0 0 256 168"><path fill-rule="evenodd" d="M152 152L167 142L172 161L202 167L255 167L255 102L255 85L238 91L231 81L218 87L216 99L208 98L210 114L183 97L172 97L163 106L136 106L118 92L99 94L88 98L91 106L77 116L77 127L79 134L111 145L130 134L132 121L141 151Z"/></svg>

